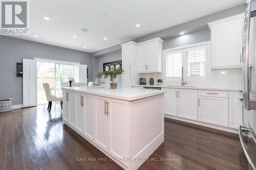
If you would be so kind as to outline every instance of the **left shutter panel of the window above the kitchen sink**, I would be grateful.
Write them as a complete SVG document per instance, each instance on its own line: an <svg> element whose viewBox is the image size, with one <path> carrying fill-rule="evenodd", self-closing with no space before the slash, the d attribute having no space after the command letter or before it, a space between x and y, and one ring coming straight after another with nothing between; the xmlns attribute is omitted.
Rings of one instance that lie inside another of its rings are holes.
<svg viewBox="0 0 256 170"><path fill-rule="evenodd" d="M182 52L167 52L165 54L166 77L181 77Z"/></svg>

